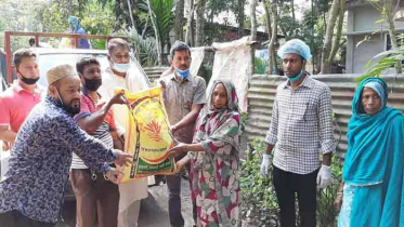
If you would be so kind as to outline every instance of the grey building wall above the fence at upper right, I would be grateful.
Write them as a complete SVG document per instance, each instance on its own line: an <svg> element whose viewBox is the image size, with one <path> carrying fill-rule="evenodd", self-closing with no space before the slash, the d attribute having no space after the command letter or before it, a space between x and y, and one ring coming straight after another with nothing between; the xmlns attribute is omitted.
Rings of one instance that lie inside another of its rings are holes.
<svg viewBox="0 0 404 227"><path fill-rule="evenodd" d="M380 12L370 4L360 4L348 9L347 74L363 74L366 63L386 51L388 25L386 23L375 24L380 18ZM404 22L394 24L399 32L404 31ZM369 40L362 42L366 37L369 37Z"/></svg>

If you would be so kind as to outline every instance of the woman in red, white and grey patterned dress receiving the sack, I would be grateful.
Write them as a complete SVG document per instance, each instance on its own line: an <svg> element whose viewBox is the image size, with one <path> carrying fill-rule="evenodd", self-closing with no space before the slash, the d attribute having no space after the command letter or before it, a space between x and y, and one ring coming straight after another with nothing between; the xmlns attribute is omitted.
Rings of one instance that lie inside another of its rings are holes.
<svg viewBox="0 0 404 227"><path fill-rule="evenodd" d="M191 162L198 227L230 227L239 223L239 139L235 88L230 81L216 80L196 121L193 144L179 144L170 150L173 156L188 152L177 165L181 170Z"/></svg>

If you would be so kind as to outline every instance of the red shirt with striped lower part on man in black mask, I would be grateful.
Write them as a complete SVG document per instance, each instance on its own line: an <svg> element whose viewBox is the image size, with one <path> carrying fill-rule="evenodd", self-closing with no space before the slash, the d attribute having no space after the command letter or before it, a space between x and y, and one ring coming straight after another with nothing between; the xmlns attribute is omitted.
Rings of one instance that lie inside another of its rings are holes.
<svg viewBox="0 0 404 227"><path fill-rule="evenodd" d="M80 99L80 112L75 116L75 120L79 121L82 118L90 116L91 114L100 110L104 106L105 102L95 102L90 97L86 88L82 89L81 99ZM102 141L106 147L114 148L114 139L110 135L110 130L115 130L115 118L112 110L108 111L107 117L101 126L95 130L95 138ZM89 169L84 162L76 155L73 153L71 169Z"/></svg>

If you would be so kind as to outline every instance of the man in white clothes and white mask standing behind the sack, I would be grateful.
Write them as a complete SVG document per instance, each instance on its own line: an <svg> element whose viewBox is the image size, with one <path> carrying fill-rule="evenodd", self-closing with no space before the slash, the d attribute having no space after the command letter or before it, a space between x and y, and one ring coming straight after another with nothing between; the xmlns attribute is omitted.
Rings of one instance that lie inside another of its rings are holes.
<svg viewBox="0 0 404 227"><path fill-rule="evenodd" d="M112 98L116 89L126 89L138 93L148 89L148 82L143 74L130 67L129 43L120 38L108 42L109 68L103 74L103 83L99 92L104 98ZM123 105L113 106L119 135L123 135L128 123L128 108ZM119 227L136 227L141 200L147 198L147 178L119 185Z"/></svg>

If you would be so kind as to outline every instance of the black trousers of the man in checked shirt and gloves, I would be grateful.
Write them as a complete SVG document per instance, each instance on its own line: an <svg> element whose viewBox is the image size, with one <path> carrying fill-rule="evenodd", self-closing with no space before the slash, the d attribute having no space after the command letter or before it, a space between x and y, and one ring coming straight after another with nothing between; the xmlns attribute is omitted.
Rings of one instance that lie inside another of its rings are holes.
<svg viewBox="0 0 404 227"><path fill-rule="evenodd" d="M309 174L296 174L273 169L273 183L281 209L281 227L296 227L295 202L299 202L301 227L315 227L316 177L318 170Z"/></svg>

